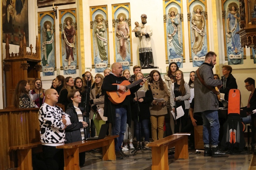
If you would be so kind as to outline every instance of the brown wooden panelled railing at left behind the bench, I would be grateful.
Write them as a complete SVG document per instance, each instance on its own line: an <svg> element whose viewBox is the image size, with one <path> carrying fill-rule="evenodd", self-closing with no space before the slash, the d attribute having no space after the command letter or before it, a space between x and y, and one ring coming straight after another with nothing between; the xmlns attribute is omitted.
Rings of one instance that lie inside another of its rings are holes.
<svg viewBox="0 0 256 170"><path fill-rule="evenodd" d="M17 167L16 151L9 147L40 141L39 108L0 110L0 169Z"/></svg>

